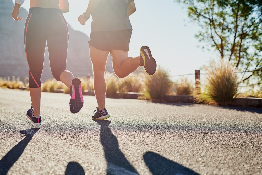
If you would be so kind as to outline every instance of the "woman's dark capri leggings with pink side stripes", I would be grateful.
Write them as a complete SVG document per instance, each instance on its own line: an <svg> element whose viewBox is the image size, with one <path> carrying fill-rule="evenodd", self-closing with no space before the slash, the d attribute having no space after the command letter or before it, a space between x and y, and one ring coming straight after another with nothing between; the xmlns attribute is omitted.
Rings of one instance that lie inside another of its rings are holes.
<svg viewBox="0 0 262 175"><path fill-rule="evenodd" d="M41 87L46 43L52 74L57 81L66 71L68 28L60 9L33 7L25 23L25 54L29 87Z"/></svg>

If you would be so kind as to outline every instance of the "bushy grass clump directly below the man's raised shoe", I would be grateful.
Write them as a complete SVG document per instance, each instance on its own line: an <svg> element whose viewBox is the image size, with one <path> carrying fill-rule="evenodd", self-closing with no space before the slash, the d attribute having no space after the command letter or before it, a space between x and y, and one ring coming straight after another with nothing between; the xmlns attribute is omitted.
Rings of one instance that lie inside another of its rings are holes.
<svg viewBox="0 0 262 175"><path fill-rule="evenodd" d="M144 83L144 95L140 98L153 102L163 102L173 87L169 71L160 66L153 75L145 75Z"/></svg>

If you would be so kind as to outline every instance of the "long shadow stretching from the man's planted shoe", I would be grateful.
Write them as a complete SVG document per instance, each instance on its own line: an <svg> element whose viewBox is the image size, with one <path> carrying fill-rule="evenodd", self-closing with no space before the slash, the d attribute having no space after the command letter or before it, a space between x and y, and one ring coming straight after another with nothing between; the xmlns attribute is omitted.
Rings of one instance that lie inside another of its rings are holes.
<svg viewBox="0 0 262 175"><path fill-rule="evenodd" d="M116 136L108 128L109 120L95 120L100 126L100 141L107 161L107 174L138 174L119 149Z"/></svg>

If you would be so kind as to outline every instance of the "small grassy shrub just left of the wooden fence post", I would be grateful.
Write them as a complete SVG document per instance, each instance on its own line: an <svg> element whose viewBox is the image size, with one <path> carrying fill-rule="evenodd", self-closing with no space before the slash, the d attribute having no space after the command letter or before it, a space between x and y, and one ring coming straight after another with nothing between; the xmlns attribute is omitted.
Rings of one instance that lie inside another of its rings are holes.
<svg viewBox="0 0 262 175"><path fill-rule="evenodd" d="M177 95L192 95L194 87L192 81L189 81L188 78L181 77L180 80L175 83L173 90Z"/></svg>

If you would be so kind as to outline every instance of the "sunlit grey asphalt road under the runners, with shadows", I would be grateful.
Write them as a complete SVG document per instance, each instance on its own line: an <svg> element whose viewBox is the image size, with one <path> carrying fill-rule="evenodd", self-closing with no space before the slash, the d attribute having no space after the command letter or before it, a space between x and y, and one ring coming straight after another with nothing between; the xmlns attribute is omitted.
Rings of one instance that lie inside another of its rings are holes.
<svg viewBox="0 0 262 175"><path fill-rule="evenodd" d="M29 91L0 88L0 174L262 174L262 109L42 93L42 125L26 118Z"/></svg>

